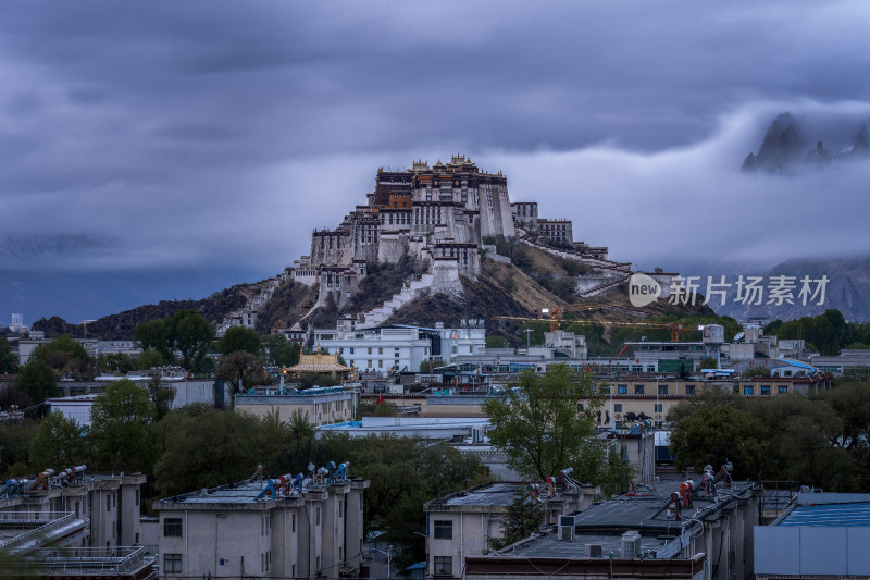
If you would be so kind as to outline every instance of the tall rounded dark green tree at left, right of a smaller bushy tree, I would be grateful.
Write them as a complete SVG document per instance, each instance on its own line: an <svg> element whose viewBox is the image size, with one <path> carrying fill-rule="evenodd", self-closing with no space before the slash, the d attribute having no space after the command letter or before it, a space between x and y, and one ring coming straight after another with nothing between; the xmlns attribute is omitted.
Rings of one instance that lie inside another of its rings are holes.
<svg viewBox="0 0 870 580"><path fill-rule="evenodd" d="M110 383L90 409L90 440L100 467L150 471L158 452L153 417L148 388L127 379Z"/></svg>

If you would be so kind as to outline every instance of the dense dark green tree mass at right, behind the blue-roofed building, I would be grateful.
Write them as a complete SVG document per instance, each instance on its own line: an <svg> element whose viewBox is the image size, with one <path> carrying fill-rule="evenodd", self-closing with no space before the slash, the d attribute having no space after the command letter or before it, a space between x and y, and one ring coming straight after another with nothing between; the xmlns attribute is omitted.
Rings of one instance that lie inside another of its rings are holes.
<svg viewBox="0 0 870 580"><path fill-rule="evenodd" d="M668 414L676 465L718 467L729 460L738 479L863 490L870 482L867 386L835 386L819 396L693 397Z"/></svg>

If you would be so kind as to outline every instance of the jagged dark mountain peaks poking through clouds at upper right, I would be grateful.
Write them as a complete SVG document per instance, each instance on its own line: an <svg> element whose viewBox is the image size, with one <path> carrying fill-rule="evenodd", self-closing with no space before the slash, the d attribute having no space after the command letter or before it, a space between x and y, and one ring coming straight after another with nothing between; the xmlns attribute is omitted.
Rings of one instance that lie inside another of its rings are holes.
<svg viewBox="0 0 870 580"><path fill-rule="evenodd" d="M870 129L863 123L850 145L831 152L824 143L817 139L811 147L811 137L791 113L781 113L765 134L757 153L750 152L741 168L746 173L787 173L798 168L824 168L849 161L870 159Z"/></svg>

